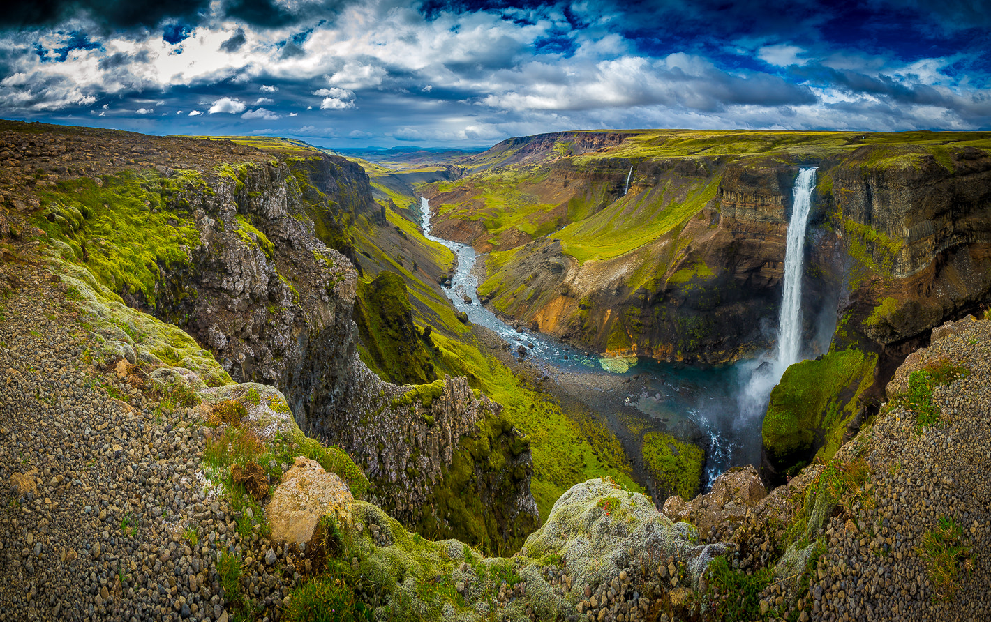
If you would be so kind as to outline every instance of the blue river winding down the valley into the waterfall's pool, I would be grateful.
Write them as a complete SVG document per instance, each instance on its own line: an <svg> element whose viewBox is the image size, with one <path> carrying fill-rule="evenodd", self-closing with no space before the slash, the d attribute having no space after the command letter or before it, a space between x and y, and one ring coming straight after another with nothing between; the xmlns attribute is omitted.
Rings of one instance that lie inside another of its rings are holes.
<svg viewBox="0 0 991 622"><path fill-rule="evenodd" d="M426 238L444 245L457 258L451 286L443 289L458 311L464 311L474 324L494 331L512 352L522 347L528 359L552 381L560 381L562 375L578 375L588 386L585 392L592 394L592 400L580 401L597 402L589 406L606 415L628 456L639 455L638 447L630 445L639 442L644 430L695 442L706 449L706 489L730 466L759 464L762 413L741 406L739 395L761 361L699 368L646 358L608 360L547 335L517 330L480 304L478 278L472 271L475 249L432 235L427 199L421 198L420 206ZM643 466L634 466L635 471L645 472Z"/></svg>

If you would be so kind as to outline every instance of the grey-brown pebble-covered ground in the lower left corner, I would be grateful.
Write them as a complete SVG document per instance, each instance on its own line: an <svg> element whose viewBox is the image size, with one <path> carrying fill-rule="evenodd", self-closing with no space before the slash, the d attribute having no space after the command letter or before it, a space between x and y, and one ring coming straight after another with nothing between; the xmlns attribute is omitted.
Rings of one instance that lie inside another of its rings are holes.
<svg viewBox="0 0 991 622"><path fill-rule="evenodd" d="M240 556L253 617L277 617L299 575L236 533L204 478L205 428L87 365L51 278L0 265L14 287L0 297L0 620L227 620L244 609L225 598L222 551Z"/></svg>

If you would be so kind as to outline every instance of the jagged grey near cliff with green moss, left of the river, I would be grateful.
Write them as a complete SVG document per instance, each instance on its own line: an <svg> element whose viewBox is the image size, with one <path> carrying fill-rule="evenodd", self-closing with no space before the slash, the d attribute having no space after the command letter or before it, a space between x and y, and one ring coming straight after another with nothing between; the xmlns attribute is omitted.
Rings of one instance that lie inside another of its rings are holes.
<svg viewBox="0 0 991 622"><path fill-rule="evenodd" d="M133 235L103 236L88 204L73 207L85 194L71 189L46 208L47 226L80 260L103 265L105 253L111 267L127 264L160 233L181 232L182 246L145 265L147 280L111 283L129 305L178 325L236 381L277 386L299 427L353 454L370 475L371 496L396 517L492 550L517 545L538 514L528 445L503 425L498 406L464 378L425 385L430 399L404 397L412 387L380 380L356 354L358 275L317 238L309 214L326 210L340 220L349 210L368 211L375 203L364 171L317 155L303 160L303 184L298 170L267 159L205 172L163 166L134 184L147 198L126 205L126 172L101 177L100 188L119 186L124 198L119 206L108 199L100 218L130 224L127 210L134 210L134 222L145 224ZM99 191L85 179L72 183ZM152 224L160 220L161 232ZM490 446L484 455L482 440ZM441 504L450 509L435 516Z"/></svg>

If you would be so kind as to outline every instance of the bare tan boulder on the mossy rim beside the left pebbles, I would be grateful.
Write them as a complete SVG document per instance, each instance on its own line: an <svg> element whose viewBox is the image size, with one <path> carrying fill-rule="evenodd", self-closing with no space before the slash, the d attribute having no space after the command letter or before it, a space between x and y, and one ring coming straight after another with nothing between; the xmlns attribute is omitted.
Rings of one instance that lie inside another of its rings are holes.
<svg viewBox="0 0 991 622"><path fill-rule="evenodd" d="M348 485L316 461L297 456L282 475L266 509L276 543L309 545L320 518L333 516L339 525L351 525L354 497Z"/></svg>

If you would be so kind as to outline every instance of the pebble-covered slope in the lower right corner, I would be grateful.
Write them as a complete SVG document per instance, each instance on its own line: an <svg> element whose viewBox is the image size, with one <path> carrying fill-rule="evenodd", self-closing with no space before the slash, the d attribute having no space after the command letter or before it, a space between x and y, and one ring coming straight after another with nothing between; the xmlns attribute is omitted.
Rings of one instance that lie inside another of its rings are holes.
<svg viewBox="0 0 991 622"><path fill-rule="evenodd" d="M861 432L871 488L855 518L827 527L813 619L991 619L991 321L937 339L926 359L968 371L936 386L935 426L917 432L915 413L895 406ZM940 519L953 526L942 536ZM925 560L927 533L952 559ZM948 583L932 578L940 566Z"/></svg>

